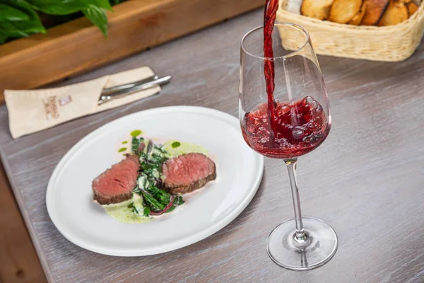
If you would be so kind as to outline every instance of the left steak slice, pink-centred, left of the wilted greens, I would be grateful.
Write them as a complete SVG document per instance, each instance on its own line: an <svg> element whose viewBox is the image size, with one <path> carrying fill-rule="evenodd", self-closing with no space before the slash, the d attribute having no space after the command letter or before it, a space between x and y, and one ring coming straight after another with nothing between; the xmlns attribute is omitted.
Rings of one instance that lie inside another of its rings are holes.
<svg viewBox="0 0 424 283"><path fill-rule="evenodd" d="M131 199L139 170L139 156L126 156L93 180L93 199L99 204L115 204Z"/></svg>

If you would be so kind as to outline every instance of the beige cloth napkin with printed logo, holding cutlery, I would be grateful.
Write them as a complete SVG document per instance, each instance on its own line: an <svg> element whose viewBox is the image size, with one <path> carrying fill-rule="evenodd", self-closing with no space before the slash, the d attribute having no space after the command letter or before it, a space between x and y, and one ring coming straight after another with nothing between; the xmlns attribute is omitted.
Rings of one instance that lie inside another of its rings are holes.
<svg viewBox="0 0 424 283"><path fill-rule="evenodd" d="M41 131L85 115L134 102L160 91L160 86L132 93L98 105L103 88L131 83L153 76L149 67L141 67L60 88L32 91L4 91L9 128L14 139Z"/></svg>

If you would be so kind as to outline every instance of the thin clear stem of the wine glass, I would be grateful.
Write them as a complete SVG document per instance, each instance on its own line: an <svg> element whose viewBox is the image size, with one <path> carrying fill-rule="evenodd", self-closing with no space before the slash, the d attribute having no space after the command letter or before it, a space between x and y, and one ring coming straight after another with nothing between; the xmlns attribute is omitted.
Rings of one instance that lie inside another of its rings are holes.
<svg viewBox="0 0 424 283"><path fill-rule="evenodd" d="M305 243L308 235L303 229L298 180L296 180L296 164L298 162L298 158L285 159L284 162L288 169L288 176L290 178L290 185L292 188L293 208L295 210L296 233L293 240L297 241L298 243Z"/></svg>

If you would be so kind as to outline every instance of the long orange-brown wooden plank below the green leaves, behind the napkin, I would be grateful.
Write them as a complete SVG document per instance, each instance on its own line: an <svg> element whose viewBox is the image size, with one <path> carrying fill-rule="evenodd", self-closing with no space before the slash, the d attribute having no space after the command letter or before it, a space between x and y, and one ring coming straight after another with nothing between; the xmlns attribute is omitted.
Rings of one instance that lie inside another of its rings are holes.
<svg viewBox="0 0 424 283"><path fill-rule="evenodd" d="M108 12L106 40L88 19L59 25L0 46L4 89L37 88L192 33L264 4L263 0L126 1Z"/></svg>

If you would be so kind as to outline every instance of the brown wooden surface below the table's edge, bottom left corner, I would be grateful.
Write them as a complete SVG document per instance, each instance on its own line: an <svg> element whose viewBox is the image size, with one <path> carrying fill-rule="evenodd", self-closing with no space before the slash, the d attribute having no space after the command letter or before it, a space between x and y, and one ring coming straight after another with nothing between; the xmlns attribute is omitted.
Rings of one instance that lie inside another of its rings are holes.
<svg viewBox="0 0 424 283"><path fill-rule="evenodd" d="M0 282L47 282L0 163Z"/></svg>

